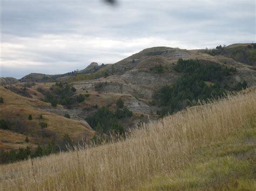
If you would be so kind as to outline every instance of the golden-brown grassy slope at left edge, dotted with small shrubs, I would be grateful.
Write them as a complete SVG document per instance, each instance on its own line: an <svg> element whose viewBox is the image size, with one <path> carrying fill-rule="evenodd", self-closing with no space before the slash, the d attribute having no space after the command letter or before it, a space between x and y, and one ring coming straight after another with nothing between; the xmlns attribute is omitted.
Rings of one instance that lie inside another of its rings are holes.
<svg viewBox="0 0 256 191"><path fill-rule="evenodd" d="M4 103L0 103L0 119L8 125L7 130L0 131L0 148L4 150L26 146L33 148L35 144L59 141L65 133L76 140L85 137L91 139L94 135L94 131L79 121L46 112L45 109L52 108L50 103L15 94L4 87L0 87L0 97L4 100ZM58 109L62 107L58 106ZM41 128L42 122L48 124L47 128ZM25 143L26 136L29 143Z"/></svg>

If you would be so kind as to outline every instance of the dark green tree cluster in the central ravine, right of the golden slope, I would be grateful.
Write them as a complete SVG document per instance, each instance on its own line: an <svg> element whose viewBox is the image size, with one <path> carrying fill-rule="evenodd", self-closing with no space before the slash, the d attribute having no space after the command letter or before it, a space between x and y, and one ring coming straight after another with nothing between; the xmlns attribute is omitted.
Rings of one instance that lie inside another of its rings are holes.
<svg viewBox="0 0 256 191"><path fill-rule="evenodd" d="M104 106L100 107L92 116L87 117L86 121L91 125L92 129L96 130L99 134L118 133L122 135L125 129L118 120L131 117L132 111L124 107L124 103L120 99L117 101L116 105L117 109L115 111L111 111Z"/></svg>

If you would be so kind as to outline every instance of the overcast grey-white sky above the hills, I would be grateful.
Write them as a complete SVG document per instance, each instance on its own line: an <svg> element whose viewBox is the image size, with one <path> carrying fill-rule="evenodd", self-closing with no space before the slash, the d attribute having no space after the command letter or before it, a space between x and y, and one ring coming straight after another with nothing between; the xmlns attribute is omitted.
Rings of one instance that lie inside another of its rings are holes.
<svg viewBox="0 0 256 191"><path fill-rule="evenodd" d="M154 46L256 41L254 0L0 1L0 77L66 73Z"/></svg>

